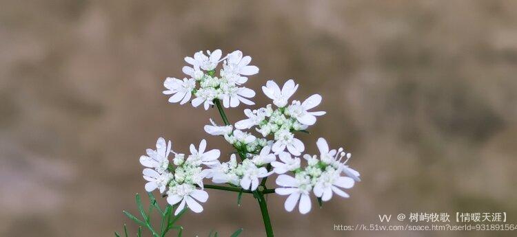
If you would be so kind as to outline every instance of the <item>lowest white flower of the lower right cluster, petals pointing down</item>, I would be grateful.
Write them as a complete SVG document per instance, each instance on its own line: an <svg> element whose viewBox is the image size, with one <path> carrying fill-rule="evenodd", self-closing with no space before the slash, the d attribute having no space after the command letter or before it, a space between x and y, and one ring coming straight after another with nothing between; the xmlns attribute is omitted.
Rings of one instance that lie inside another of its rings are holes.
<svg viewBox="0 0 517 237"><path fill-rule="evenodd" d="M278 195L289 195L285 200L284 207L287 212L294 210L298 199L300 205L298 210L301 214L306 214L311 210L311 200L309 197L312 185L309 177L290 177L287 174L278 175L276 178L276 184L281 185L283 188L275 188L274 192Z"/></svg>

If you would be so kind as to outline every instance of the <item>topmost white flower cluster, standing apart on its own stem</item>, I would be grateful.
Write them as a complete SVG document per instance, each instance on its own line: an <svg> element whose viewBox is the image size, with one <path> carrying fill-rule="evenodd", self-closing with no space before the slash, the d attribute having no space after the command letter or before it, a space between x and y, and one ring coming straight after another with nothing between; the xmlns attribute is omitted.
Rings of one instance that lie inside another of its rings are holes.
<svg viewBox="0 0 517 237"><path fill-rule="evenodd" d="M225 108L239 106L241 102L252 105L249 100L255 96L255 91L241 87L247 81L247 76L259 73L259 68L249 65L252 58L243 56L243 53L236 50L221 58L221 49L214 52L196 52L194 58L185 57L185 62L190 66L183 67L183 73L188 78L167 78L163 86L167 90L165 95L171 95L169 102L185 104L190 101L192 95L192 106L197 107L203 104L205 110L214 105L214 99L223 101ZM216 67L223 62L223 68L219 71L219 77L215 76Z"/></svg>

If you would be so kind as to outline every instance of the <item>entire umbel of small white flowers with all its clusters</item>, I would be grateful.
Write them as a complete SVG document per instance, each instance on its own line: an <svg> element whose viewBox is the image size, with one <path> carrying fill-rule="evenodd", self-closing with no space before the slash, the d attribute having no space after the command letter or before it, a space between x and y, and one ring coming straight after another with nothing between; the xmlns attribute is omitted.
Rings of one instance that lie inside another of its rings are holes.
<svg viewBox="0 0 517 237"><path fill-rule="evenodd" d="M190 101L194 107L203 104L205 109L214 105L219 108L221 104L216 104L219 101L225 108L239 106L241 102L254 104L250 98L255 96L255 92L242 87L248 80L247 76L259 72L258 67L249 65L252 58L243 56L239 50L224 57L220 49L206 53L200 51L194 57L185 57L189 65L183 67L183 73L187 75L183 80L165 79L163 85L167 90L163 93L170 95L169 102L185 104ZM219 76L215 76L221 62ZM322 100L318 94L303 102L290 102L297 89L298 84L294 80L287 80L282 88L268 80L262 91L272 104L259 109L244 109L247 118L233 125L227 122L222 108L219 108L225 125L219 126L210 119L210 124L204 126L206 133L224 137L237 150L240 160L232 154L228 161L219 161L219 150L205 151L205 139L201 140L198 149L190 145L190 155L176 153L172 151L171 142L160 137L156 141L156 150L148 149L147 155L140 158L146 167L143 170L143 178L148 181L145 190L152 192L157 189L166 194L170 205L180 203L175 214L181 212L185 205L194 212L203 211L199 203L208 199L203 179L256 192L262 179L278 174L278 188L274 193L287 196L285 210L291 212L299 203L298 210L302 214L311 210L311 194L320 201L329 201L333 194L349 197L343 190L360 181L359 172L347 166L352 156L350 153L343 148L331 150L327 141L319 138L316 142L319 155L302 155L305 146L295 137L296 132L306 132L325 112L314 111ZM174 154L172 163L170 153Z"/></svg>

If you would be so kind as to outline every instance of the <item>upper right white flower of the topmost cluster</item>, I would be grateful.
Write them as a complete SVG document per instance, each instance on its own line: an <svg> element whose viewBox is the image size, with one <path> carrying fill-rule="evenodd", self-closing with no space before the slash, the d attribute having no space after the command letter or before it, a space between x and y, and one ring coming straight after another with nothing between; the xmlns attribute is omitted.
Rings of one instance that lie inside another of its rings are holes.
<svg viewBox="0 0 517 237"><path fill-rule="evenodd" d="M226 56L227 60L223 63L221 76L234 84L243 84L247 81L247 77L259 73L259 67L248 65L252 57L244 56L239 50L232 52Z"/></svg>

